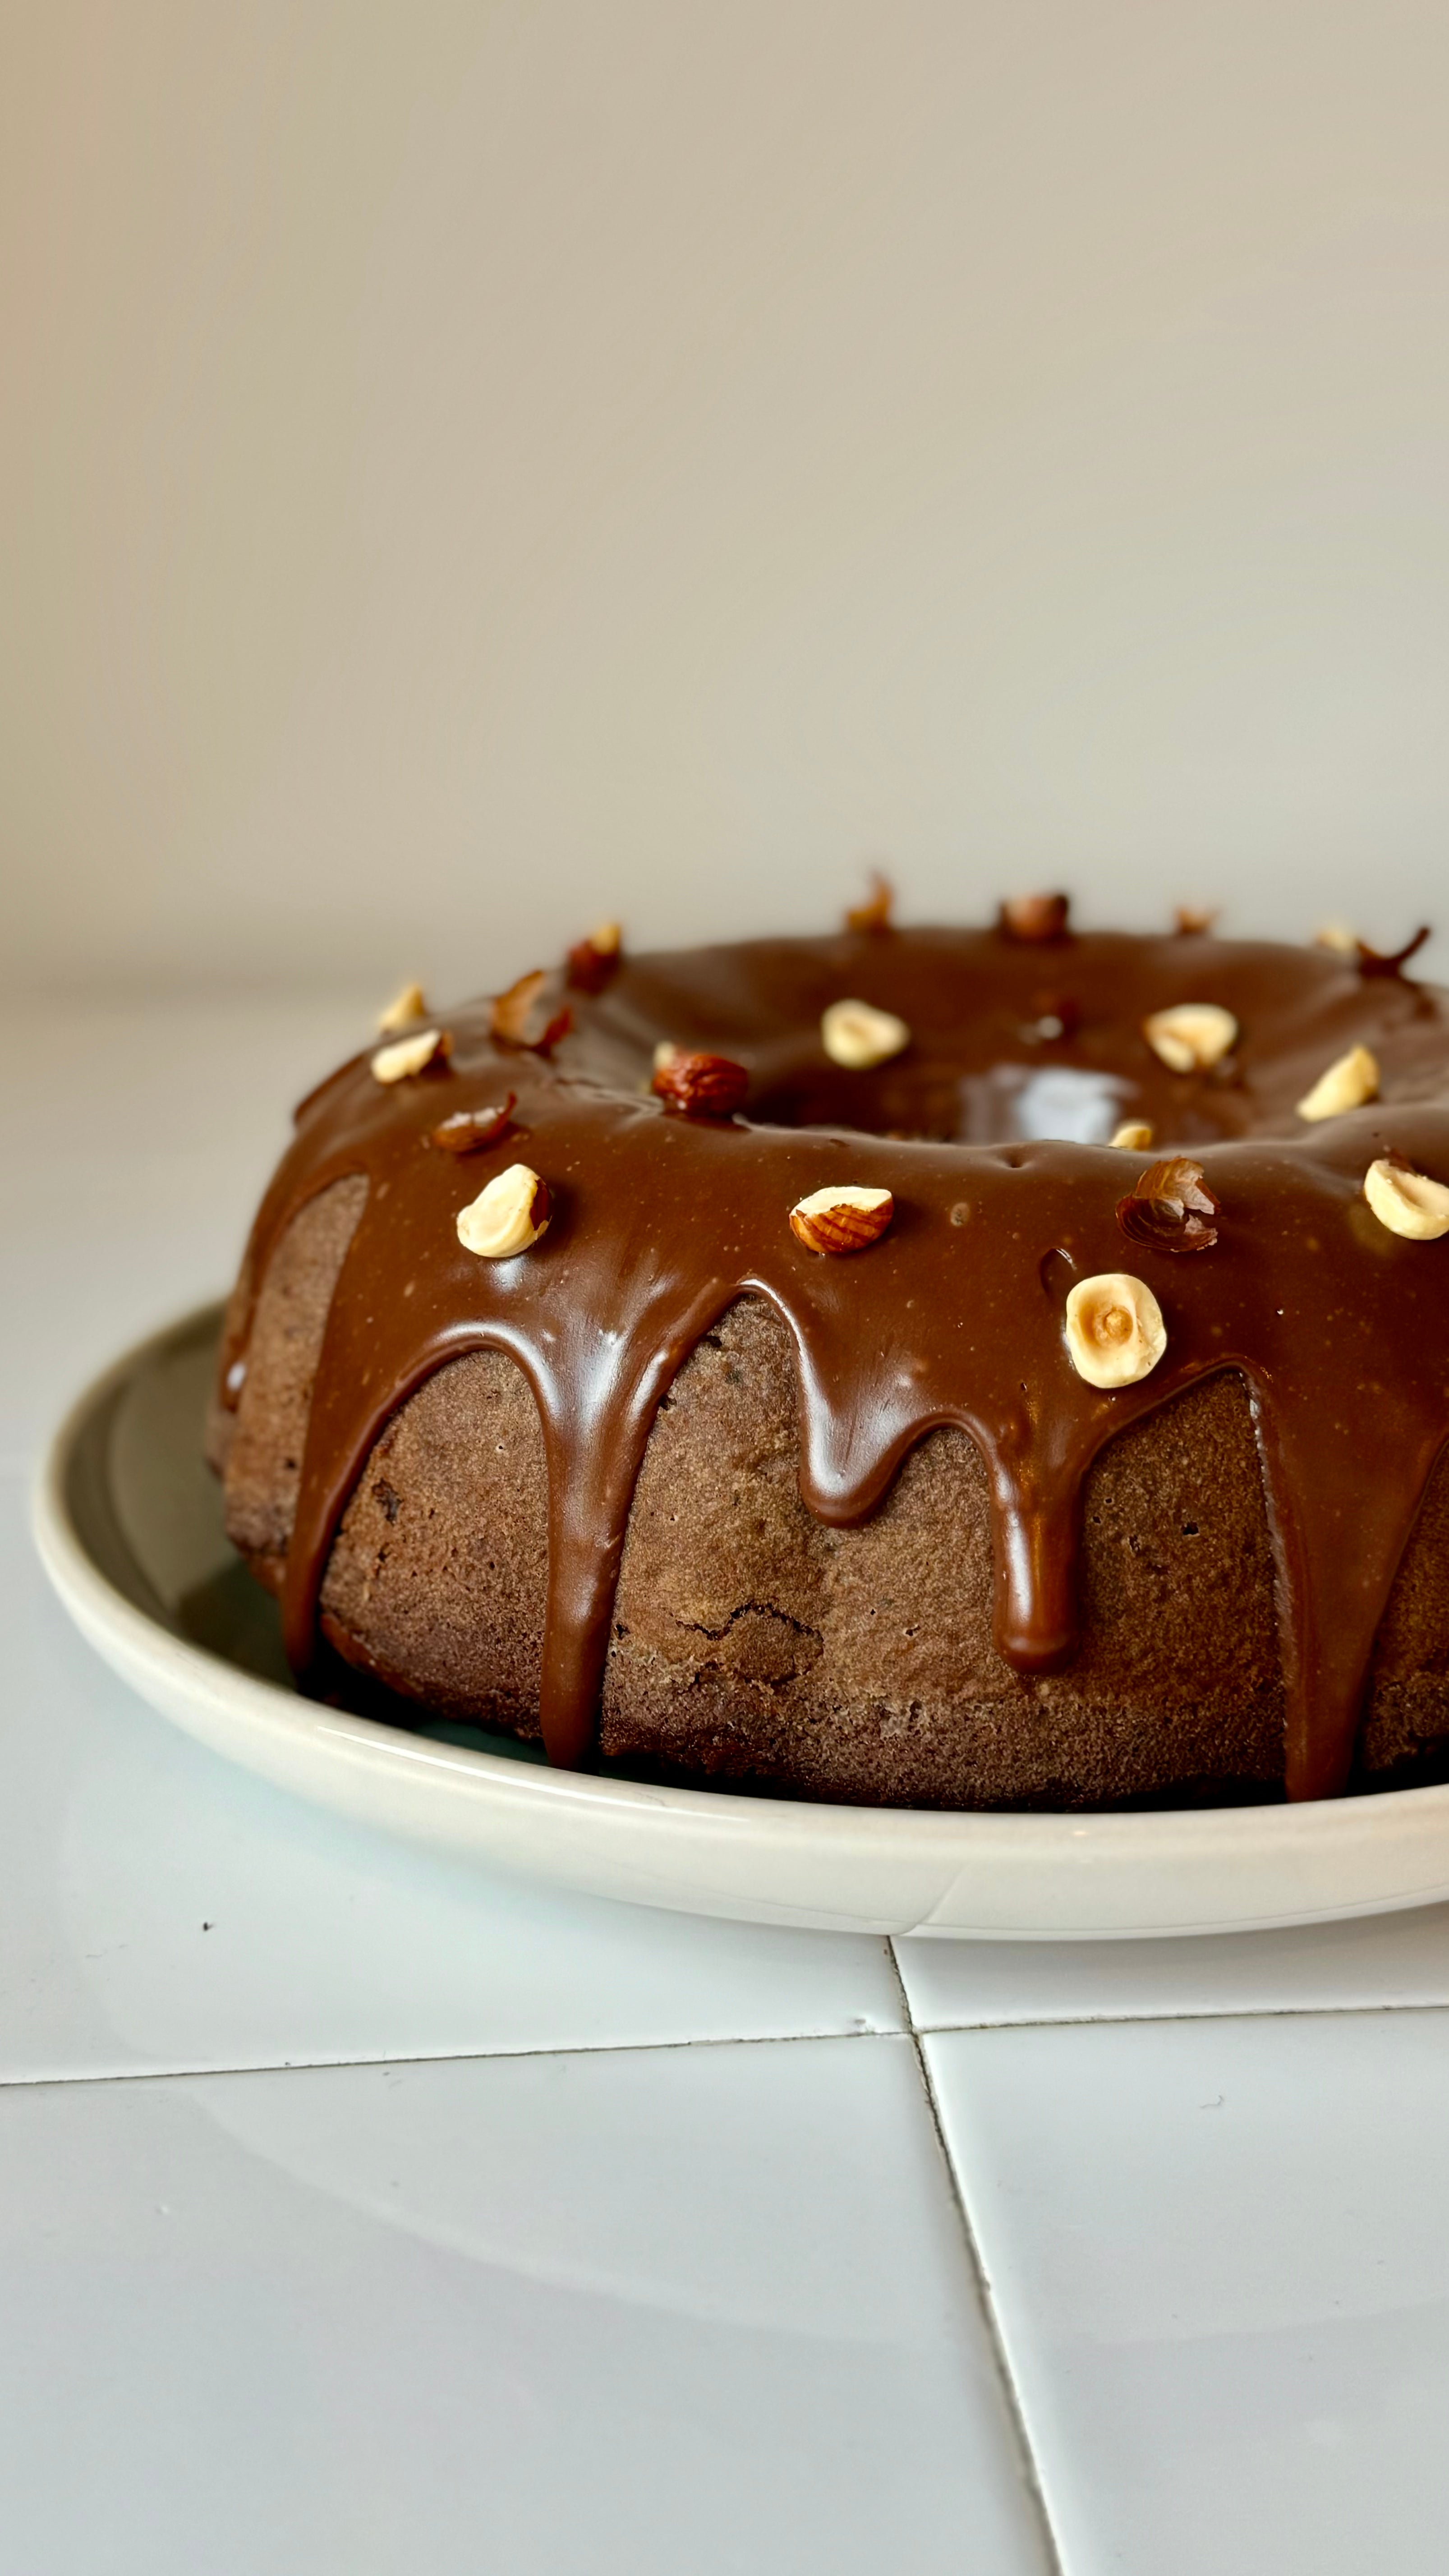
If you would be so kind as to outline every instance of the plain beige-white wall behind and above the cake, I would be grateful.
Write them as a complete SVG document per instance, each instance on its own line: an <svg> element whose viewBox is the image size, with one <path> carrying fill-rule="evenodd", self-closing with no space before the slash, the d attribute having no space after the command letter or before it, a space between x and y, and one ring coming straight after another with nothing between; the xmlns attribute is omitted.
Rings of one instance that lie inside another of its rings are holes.
<svg viewBox="0 0 1449 2576"><path fill-rule="evenodd" d="M0 44L0 979L1449 927L1441 0Z"/></svg>

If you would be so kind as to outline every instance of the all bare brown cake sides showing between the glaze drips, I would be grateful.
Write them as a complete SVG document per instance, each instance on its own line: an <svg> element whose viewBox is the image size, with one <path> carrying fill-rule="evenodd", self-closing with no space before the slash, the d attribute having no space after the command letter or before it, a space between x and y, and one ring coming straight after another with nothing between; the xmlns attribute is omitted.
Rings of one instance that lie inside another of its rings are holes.
<svg viewBox="0 0 1449 2576"><path fill-rule="evenodd" d="M289 1226L260 1288L224 1468L227 1525L281 1582L333 1285L366 1185ZM786 1327L740 1301L681 1368L634 1492L601 1747L815 1798L1078 1806L1271 1788L1284 1772L1274 1564L1248 1394L1222 1373L1124 1430L1083 1494L1083 1643L1021 1680L993 1646L985 1471L931 1432L859 1528L799 1499ZM1374 1775L1449 1734L1449 1473L1385 1620L1361 1752ZM322 1628L443 1713L539 1731L547 1471L500 1352L441 1368L345 1510Z"/></svg>

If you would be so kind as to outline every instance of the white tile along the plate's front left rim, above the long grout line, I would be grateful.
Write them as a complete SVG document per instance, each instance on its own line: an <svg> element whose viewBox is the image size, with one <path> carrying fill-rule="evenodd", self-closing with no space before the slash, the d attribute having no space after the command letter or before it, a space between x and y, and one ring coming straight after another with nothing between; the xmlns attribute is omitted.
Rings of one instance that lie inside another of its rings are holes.
<svg viewBox="0 0 1449 2576"><path fill-rule="evenodd" d="M0 1479L0 2079L900 2025L884 1942L552 1896L232 1770L75 1636L23 1504Z"/></svg>

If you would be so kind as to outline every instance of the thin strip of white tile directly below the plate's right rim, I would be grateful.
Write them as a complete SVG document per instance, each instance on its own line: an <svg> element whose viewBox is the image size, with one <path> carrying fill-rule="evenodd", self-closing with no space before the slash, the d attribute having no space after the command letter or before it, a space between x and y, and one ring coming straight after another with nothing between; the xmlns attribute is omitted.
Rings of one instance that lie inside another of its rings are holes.
<svg viewBox="0 0 1449 2576"><path fill-rule="evenodd" d="M897 1940L920 2030L1449 2004L1449 1906L1214 1940Z"/></svg>

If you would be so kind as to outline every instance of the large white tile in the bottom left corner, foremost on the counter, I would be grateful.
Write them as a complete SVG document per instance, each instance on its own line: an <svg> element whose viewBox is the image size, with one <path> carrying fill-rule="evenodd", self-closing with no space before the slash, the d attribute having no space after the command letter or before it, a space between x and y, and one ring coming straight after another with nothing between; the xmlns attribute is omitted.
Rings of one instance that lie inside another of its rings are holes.
<svg viewBox="0 0 1449 2576"><path fill-rule="evenodd" d="M905 2040L0 2092L23 2576L1044 2576Z"/></svg>

